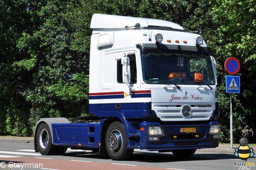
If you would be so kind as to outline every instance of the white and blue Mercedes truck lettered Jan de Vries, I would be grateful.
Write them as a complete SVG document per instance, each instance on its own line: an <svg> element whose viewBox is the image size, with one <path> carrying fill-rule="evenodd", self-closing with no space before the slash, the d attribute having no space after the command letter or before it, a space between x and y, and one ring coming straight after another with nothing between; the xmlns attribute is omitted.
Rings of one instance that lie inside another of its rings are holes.
<svg viewBox="0 0 256 170"><path fill-rule="evenodd" d="M216 62L198 31L105 14L94 14L90 28L89 110L97 120L40 119L36 152L71 148L124 160L134 149L188 157L218 147Z"/></svg>

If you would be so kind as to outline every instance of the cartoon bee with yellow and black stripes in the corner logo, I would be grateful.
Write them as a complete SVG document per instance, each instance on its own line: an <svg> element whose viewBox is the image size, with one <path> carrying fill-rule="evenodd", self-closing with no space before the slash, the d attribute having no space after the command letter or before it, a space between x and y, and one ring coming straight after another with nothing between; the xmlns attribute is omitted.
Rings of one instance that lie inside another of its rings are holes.
<svg viewBox="0 0 256 170"><path fill-rule="evenodd" d="M248 139L245 137L242 137L239 139L240 146L238 148L235 148L234 155L238 156L241 160L247 161L249 157L254 156L253 148L250 148L248 144Z"/></svg>

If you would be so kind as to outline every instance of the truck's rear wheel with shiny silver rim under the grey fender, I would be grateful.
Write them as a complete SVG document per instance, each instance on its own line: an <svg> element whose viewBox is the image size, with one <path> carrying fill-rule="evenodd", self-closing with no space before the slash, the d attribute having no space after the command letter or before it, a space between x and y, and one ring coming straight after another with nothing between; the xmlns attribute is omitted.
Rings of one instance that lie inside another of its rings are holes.
<svg viewBox="0 0 256 170"><path fill-rule="evenodd" d="M42 155L52 155L56 154L58 151L58 146L54 146L52 144L52 135L50 132L50 128L46 123L40 124L37 129L36 145L38 147L38 151Z"/></svg>

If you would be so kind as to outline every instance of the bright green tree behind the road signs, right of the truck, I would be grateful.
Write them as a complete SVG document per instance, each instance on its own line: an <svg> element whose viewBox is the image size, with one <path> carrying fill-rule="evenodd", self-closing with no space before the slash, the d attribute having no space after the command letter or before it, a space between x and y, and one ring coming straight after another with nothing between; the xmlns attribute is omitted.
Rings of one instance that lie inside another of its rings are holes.
<svg viewBox="0 0 256 170"><path fill-rule="evenodd" d="M228 57L236 57L241 64L239 75L241 76L241 92L233 95L233 125L236 142L242 132L256 129L254 120L256 117L256 1L255 0L211 0L213 5L214 20L220 24L218 28L218 47L216 52L222 56L218 61L224 66ZM222 103L222 129L229 129L230 107L228 105L229 95L225 94L225 77L223 69L219 78ZM220 96L220 95L219 95ZM228 142L228 131L222 130L225 142ZM255 142L255 136L249 133L249 140Z"/></svg>

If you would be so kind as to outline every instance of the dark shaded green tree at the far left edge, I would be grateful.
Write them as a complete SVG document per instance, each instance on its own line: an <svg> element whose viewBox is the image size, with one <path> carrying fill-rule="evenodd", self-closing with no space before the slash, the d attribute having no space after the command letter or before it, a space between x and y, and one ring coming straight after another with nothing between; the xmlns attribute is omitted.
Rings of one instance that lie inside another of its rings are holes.
<svg viewBox="0 0 256 170"><path fill-rule="evenodd" d="M27 121L30 103L22 95L30 76L17 72L13 63L26 57L16 47L23 32L32 32L27 0L0 0L0 134L31 134Z"/></svg>

